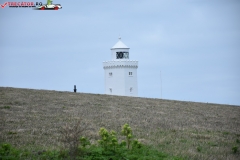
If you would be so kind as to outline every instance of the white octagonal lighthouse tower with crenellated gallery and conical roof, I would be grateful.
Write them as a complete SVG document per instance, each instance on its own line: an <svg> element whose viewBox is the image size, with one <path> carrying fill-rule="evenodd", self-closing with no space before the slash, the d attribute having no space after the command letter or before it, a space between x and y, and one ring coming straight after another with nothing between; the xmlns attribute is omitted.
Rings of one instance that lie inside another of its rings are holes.
<svg viewBox="0 0 240 160"><path fill-rule="evenodd" d="M138 96L138 61L129 60L129 49L119 38L111 48L112 60L103 62L105 94Z"/></svg>

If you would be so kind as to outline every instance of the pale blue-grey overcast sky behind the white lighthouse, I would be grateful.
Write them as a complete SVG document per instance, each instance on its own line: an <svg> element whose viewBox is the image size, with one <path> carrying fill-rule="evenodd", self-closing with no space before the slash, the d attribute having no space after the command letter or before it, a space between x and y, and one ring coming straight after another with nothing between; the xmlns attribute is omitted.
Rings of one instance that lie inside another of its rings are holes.
<svg viewBox="0 0 240 160"><path fill-rule="evenodd" d="M240 105L239 0L53 3L63 8L0 8L0 86L104 94L121 36L140 97Z"/></svg>

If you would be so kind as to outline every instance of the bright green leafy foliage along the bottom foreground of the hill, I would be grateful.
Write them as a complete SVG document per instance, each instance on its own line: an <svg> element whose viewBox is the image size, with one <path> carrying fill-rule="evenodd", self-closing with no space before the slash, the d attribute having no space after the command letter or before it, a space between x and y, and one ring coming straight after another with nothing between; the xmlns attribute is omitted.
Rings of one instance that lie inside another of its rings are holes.
<svg viewBox="0 0 240 160"><path fill-rule="evenodd" d="M65 134L65 132L64 132ZM0 160L17 159L78 159L78 160L147 160L147 159L180 159L179 157L169 157L167 154L159 152L153 147L141 144L138 140L132 140L132 130L128 124L123 126L122 134L126 141L118 143L115 131L108 131L100 128L100 140L98 145L91 144L87 137L82 136L77 144L78 148L74 155L71 149L66 146L64 150L28 152L13 148L10 144L2 144L0 147ZM69 140L69 137L66 137ZM71 140L71 139L70 139Z"/></svg>

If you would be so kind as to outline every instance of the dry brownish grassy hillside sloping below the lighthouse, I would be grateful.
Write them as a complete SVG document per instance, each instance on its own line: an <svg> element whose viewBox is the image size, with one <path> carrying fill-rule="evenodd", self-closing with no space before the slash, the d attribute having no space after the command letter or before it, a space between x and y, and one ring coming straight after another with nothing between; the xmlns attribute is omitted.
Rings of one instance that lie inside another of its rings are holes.
<svg viewBox="0 0 240 160"><path fill-rule="evenodd" d="M0 142L58 149L61 129L79 120L92 142L100 127L120 133L128 123L139 141L170 155L240 159L239 106L0 87Z"/></svg>

